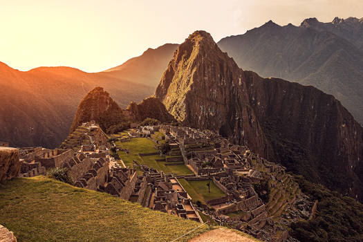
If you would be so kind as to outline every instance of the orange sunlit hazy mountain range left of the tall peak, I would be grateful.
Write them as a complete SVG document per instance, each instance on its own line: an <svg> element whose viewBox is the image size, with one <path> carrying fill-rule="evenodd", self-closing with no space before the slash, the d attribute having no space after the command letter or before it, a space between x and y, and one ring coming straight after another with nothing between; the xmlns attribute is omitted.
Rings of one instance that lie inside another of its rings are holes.
<svg viewBox="0 0 363 242"><path fill-rule="evenodd" d="M178 45L149 48L108 71L70 67L18 71L0 62L0 140L13 147L54 148L66 138L82 98L96 86L126 107L149 97Z"/></svg>

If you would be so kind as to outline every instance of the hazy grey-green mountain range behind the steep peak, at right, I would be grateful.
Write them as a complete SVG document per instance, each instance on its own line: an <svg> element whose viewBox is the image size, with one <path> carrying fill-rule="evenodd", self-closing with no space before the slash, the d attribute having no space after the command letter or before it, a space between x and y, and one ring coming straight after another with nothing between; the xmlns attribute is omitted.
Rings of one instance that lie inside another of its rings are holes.
<svg viewBox="0 0 363 242"><path fill-rule="evenodd" d="M218 46L244 70L334 95L363 124L363 19L311 18L300 26L268 21L221 39Z"/></svg>

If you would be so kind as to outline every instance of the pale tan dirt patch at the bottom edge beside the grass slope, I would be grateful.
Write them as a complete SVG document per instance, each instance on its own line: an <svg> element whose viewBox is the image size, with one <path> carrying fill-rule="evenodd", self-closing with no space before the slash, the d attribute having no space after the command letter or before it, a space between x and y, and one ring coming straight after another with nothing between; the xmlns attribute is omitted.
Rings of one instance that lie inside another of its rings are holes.
<svg viewBox="0 0 363 242"><path fill-rule="evenodd" d="M216 230L210 230L196 236L188 242L256 242L253 239L243 237L232 230L225 228L219 228Z"/></svg>

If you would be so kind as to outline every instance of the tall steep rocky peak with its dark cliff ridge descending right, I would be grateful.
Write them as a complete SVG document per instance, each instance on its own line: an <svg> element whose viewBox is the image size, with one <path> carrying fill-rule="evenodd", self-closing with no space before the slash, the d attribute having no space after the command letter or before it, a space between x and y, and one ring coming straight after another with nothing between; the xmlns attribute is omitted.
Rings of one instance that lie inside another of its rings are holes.
<svg viewBox="0 0 363 242"><path fill-rule="evenodd" d="M156 89L176 120L213 129L291 171L363 198L362 127L312 86L243 71L212 37L181 44Z"/></svg>

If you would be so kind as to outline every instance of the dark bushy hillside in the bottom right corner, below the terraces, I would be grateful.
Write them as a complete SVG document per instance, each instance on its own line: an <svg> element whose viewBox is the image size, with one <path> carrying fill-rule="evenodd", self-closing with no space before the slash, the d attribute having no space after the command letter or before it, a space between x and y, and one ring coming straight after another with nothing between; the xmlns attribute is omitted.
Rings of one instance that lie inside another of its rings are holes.
<svg viewBox="0 0 363 242"><path fill-rule="evenodd" d="M292 223L292 236L301 242L363 241L362 203L301 176L297 182L304 193L318 201L317 214L309 221Z"/></svg>

